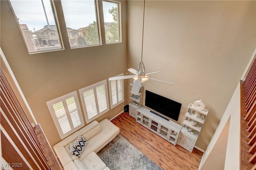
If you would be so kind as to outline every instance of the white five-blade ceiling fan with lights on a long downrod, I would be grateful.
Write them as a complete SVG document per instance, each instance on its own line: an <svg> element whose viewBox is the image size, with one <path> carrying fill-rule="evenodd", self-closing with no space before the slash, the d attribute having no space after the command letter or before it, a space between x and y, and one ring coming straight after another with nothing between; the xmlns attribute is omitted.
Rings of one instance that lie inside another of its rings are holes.
<svg viewBox="0 0 256 170"><path fill-rule="evenodd" d="M143 35L144 35L144 14L145 14L145 0L143 2L143 21L142 21L142 49L141 49L141 61L138 64L138 70L135 70L133 68L129 68L128 71L133 73L134 75L127 75L127 76L116 76L116 77L111 77L109 78L109 80L124 80L124 79L128 79L128 78L133 78L134 79L134 84L132 86L132 90L131 93L137 95L138 92L140 91L140 86L142 82L147 81L148 79L150 80L154 80L157 82L161 82L161 83L166 83L166 84L171 84L173 85L173 83L170 82L166 82L166 81L162 81L162 80L158 80L155 78L150 78L148 75L149 74L155 74L161 71L156 71L156 72L150 72L146 74L145 71L145 67L144 67L144 63L142 61L142 54L143 54Z"/></svg>

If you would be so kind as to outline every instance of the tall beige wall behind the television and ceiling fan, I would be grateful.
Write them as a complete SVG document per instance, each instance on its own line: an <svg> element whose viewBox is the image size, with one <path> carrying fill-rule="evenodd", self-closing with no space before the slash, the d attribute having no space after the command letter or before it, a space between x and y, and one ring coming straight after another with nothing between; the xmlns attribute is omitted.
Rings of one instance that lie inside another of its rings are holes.
<svg viewBox="0 0 256 170"><path fill-rule="evenodd" d="M210 109L196 146L205 150L256 47L255 1L146 0L144 88L186 107L202 99ZM128 68L140 61L143 1L128 1ZM141 16L141 17L140 17ZM127 91L128 92L128 91Z"/></svg>

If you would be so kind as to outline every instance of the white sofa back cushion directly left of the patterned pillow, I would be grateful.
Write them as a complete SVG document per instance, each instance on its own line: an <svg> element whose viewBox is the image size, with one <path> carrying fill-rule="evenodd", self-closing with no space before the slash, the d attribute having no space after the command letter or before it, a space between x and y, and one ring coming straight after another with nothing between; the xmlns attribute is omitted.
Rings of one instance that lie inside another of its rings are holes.
<svg viewBox="0 0 256 170"><path fill-rule="evenodd" d="M62 166L66 166L69 162L73 162L65 147L54 146L53 149L55 150Z"/></svg>

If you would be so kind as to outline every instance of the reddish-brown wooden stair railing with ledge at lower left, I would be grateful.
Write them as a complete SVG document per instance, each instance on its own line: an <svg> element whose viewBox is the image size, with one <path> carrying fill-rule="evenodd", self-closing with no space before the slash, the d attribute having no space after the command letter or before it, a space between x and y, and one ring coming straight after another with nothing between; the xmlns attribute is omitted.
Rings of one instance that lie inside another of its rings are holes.
<svg viewBox="0 0 256 170"><path fill-rule="evenodd" d="M0 68L1 169L62 170L38 124L30 124Z"/></svg>

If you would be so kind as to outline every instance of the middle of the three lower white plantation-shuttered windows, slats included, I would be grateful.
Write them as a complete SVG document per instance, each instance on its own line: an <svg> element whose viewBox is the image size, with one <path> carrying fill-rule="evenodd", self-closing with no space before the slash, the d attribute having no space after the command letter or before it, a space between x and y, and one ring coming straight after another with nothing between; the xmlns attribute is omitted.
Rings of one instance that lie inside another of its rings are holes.
<svg viewBox="0 0 256 170"><path fill-rule="evenodd" d="M107 82L103 80L79 90L86 123L109 111Z"/></svg>

